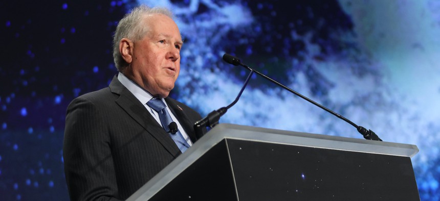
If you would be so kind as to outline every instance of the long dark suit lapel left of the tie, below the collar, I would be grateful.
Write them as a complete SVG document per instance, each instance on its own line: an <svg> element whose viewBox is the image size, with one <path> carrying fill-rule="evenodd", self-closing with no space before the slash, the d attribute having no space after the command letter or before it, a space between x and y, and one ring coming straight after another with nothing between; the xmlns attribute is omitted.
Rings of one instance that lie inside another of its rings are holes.
<svg viewBox="0 0 440 201"><path fill-rule="evenodd" d="M169 137L161 125L151 116L148 110L127 88L125 88L115 76L109 85L113 93L119 94L116 103L127 112L135 121L137 121L150 135L156 138L168 152L177 157L181 154L180 149Z"/></svg>

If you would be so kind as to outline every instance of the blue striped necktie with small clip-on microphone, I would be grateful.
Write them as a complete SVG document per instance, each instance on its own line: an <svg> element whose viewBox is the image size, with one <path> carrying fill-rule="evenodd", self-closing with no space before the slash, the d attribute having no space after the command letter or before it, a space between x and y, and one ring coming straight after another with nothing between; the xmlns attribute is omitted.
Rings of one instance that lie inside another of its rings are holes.
<svg viewBox="0 0 440 201"><path fill-rule="evenodd" d="M148 101L147 105L159 113L159 118L162 123L164 130L171 136L174 143L179 147L182 153L188 149L189 144L183 137L183 135L178 130L177 133L171 134L168 125L172 122L171 116L169 115L162 98L152 98Z"/></svg>

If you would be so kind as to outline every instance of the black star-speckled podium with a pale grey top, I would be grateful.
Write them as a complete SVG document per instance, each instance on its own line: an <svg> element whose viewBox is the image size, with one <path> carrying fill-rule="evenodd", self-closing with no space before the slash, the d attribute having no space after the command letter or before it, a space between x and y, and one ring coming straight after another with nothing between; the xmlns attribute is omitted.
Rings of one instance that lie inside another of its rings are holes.
<svg viewBox="0 0 440 201"><path fill-rule="evenodd" d="M420 200L415 145L218 124L127 200Z"/></svg>

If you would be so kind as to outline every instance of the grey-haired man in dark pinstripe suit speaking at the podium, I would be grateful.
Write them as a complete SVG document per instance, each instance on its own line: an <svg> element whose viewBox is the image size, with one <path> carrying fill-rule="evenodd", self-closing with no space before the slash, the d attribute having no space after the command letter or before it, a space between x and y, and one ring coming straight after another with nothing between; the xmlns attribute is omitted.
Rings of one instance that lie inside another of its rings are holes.
<svg viewBox="0 0 440 201"><path fill-rule="evenodd" d="M75 98L67 110L63 157L72 200L126 199L182 154L170 137L176 134L167 133L147 105L150 99L165 104L182 144L197 140L192 125L200 114L168 97L182 45L166 9L140 6L121 19L114 38L118 76L107 88Z"/></svg>

